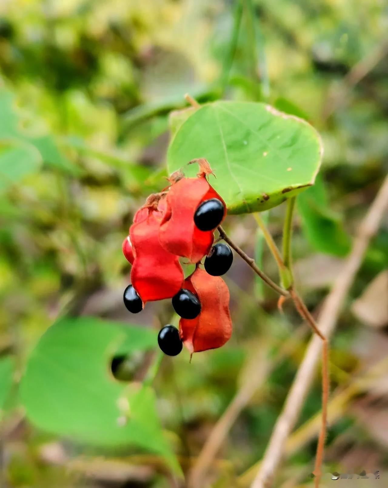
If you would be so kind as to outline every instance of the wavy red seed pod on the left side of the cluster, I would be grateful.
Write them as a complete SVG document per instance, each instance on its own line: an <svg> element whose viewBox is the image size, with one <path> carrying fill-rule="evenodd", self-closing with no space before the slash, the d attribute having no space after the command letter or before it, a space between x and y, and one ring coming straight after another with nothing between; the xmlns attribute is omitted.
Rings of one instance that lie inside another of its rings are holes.
<svg viewBox="0 0 388 488"><path fill-rule="evenodd" d="M131 283L143 303L172 298L182 287L184 274L179 257L159 243L162 213L155 208L141 208L129 229L135 260Z"/></svg>

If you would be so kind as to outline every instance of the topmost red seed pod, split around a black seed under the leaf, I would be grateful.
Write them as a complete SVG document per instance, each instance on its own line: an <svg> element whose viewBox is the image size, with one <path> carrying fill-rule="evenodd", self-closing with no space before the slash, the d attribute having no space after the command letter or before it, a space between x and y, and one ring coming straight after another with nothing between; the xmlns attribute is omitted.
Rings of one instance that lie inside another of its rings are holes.
<svg viewBox="0 0 388 488"><path fill-rule="evenodd" d="M200 261L213 244L213 230L202 231L194 224L198 206L220 195L210 186L204 174L198 178L182 178L170 186L165 197L165 211L159 231L162 246L173 254L188 258L191 263Z"/></svg>

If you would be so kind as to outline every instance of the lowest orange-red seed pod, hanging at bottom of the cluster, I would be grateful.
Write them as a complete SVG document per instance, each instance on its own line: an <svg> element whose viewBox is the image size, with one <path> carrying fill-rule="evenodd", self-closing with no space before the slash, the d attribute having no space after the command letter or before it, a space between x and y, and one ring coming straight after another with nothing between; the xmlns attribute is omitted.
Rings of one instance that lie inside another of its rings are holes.
<svg viewBox="0 0 388 488"><path fill-rule="evenodd" d="M187 349L193 352L223 346L232 333L229 290L220 276L211 276L201 268L184 281L184 288L195 293L201 312L195 319L181 319L179 331Z"/></svg>

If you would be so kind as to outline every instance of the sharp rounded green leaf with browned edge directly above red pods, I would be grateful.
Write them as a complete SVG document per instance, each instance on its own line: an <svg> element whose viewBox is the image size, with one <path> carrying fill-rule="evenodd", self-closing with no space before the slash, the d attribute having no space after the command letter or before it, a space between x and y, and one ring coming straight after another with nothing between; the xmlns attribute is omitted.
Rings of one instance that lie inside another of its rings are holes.
<svg viewBox="0 0 388 488"><path fill-rule="evenodd" d="M264 103L213 102L193 113L173 137L169 172L194 176L205 158L211 184L234 214L262 211L312 185L322 158L318 133L306 121Z"/></svg>

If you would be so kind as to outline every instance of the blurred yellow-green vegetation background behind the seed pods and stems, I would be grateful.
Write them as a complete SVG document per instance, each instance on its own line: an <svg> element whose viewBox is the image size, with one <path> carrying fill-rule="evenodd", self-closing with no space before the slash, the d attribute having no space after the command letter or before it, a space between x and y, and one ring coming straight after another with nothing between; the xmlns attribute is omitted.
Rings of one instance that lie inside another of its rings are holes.
<svg viewBox="0 0 388 488"><path fill-rule="evenodd" d="M0 2L1 488L180 486L260 360L204 485L249 486L308 328L235 257L231 340L191 364L187 351L161 358L157 331L177 317L169 301L130 316L121 244L166 185L169 113L184 94L267 102L322 136L292 244L297 287L319 310L387 173L387 32L383 0ZM280 245L285 205L262 215ZM225 228L277 281L252 215ZM325 471L387 470L387 251L386 216L331 341L331 398L345 395ZM274 486L312 486L320 402L317 371Z"/></svg>

